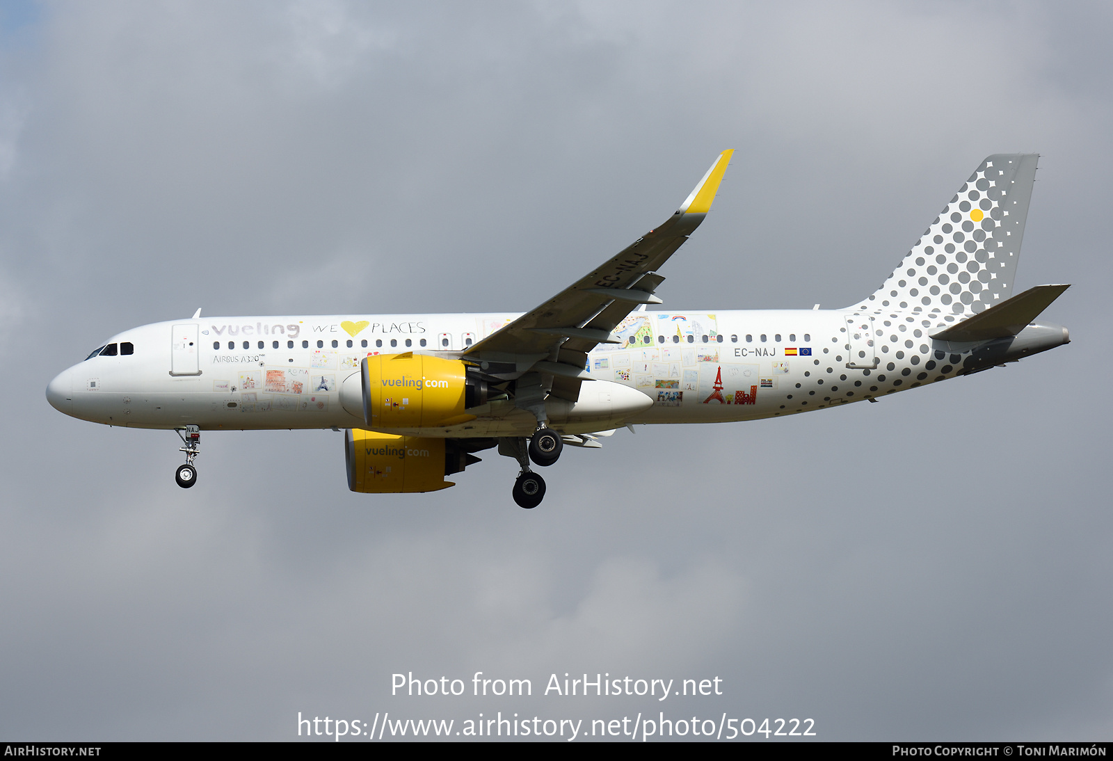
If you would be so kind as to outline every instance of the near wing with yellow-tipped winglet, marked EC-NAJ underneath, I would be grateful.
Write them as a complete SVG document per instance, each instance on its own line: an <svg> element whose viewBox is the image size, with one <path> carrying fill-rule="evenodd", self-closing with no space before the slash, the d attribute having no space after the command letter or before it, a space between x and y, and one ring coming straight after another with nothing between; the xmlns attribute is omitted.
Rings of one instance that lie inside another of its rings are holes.
<svg viewBox="0 0 1113 761"><path fill-rule="evenodd" d="M588 374L588 352L618 343L611 333L634 308L660 304L653 295L668 261L711 208L733 150L725 150L696 189L663 224L588 273L564 290L463 353L486 363L492 375L512 377L533 369L553 376L552 393L575 399Z"/></svg>

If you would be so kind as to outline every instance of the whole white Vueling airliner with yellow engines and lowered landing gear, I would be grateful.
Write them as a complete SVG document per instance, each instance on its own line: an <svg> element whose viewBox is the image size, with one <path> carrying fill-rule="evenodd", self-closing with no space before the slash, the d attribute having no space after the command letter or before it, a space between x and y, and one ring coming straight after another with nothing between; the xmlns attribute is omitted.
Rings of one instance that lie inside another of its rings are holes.
<svg viewBox="0 0 1113 761"><path fill-rule="evenodd" d="M1035 322L1068 286L1013 296L1036 155L986 158L874 294L843 309L648 312L658 270L703 221L733 151L683 205L535 309L284 315L144 325L47 386L86 421L174 429L178 485L201 431L345 431L348 487L432 492L498 446L535 507L565 444L648 423L824 409L968 375L1070 342Z"/></svg>

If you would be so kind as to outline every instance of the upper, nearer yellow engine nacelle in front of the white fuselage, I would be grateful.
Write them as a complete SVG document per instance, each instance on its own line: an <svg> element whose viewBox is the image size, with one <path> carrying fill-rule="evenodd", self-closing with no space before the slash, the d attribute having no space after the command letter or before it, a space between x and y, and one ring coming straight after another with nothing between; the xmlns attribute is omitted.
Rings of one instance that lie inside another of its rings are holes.
<svg viewBox="0 0 1113 761"><path fill-rule="evenodd" d="M467 368L459 359L378 354L363 360L363 419L372 428L429 428L475 419ZM472 384L474 385L474 384Z"/></svg>

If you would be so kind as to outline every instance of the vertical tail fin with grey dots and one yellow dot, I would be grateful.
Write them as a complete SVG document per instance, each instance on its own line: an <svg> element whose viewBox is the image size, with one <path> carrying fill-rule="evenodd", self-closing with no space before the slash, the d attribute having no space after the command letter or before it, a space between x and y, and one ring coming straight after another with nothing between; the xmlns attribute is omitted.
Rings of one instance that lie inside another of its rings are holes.
<svg viewBox="0 0 1113 761"><path fill-rule="evenodd" d="M881 287L849 308L969 317L1006 300L1038 158L995 154L982 161Z"/></svg>

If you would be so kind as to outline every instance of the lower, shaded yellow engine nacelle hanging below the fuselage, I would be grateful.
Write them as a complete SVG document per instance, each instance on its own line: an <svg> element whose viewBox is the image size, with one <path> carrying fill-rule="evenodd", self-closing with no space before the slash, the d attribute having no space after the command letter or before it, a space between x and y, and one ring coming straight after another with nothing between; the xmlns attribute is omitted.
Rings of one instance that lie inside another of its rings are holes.
<svg viewBox="0 0 1113 761"><path fill-rule="evenodd" d="M353 428L344 435L344 459L353 492L435 492L455 486L444 480L449 468L443 438Z"/></svg>

